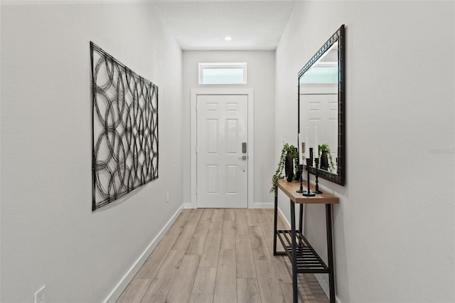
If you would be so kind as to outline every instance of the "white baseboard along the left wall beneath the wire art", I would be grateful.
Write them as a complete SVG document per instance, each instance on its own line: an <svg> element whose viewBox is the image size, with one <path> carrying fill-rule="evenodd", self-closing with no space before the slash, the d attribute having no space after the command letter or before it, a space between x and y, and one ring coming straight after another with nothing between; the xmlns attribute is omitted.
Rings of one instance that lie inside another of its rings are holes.
<svg viewBox="0 0 455 303"><path fill-rule="evenodd" d="M171 228L171 225L176 221L178 215L180 215L180 213L182 212L182 209L183 205L180 208L178 208L176 213L174 213L171 219L168 220L168 222L166 223L166 225L164 225L164 228L160 230L158 235L156 235L156 237L153 240L151 240L149 246L147 246L144 252L142 252L141 255L139 255L137 260L133 263L132 267L129 268L127 273L122 277L122 279L117 283L117 285L115 285L114 289L112 289L112 292L106 297L103 303L110 302L114 303L115 301L117 301L117 299L119 299L124 289L126 289L127 286L129 285L129 282L133 280L134 275L137 274L137 272L139 271L141 266L144 265L144 262L147 260L151 252L154 251L156 245L158 245L161 238L163 238L168 229Z"/></svg>

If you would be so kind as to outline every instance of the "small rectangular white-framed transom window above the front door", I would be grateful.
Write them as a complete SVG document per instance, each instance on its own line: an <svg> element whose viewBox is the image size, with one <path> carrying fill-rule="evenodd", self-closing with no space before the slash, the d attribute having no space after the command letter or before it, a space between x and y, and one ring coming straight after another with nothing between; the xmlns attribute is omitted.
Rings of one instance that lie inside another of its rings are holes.
<svg viewBox="0 0 455 303"><path fill-rule="evenodd" d="M247 84L247 63L199 63L199 84Z"/></svg>

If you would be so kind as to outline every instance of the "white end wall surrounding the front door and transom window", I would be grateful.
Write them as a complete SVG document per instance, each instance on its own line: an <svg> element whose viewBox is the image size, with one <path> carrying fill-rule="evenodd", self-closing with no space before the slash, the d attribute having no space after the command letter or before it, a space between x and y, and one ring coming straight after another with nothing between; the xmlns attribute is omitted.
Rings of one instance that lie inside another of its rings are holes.
<svg viewBox="0 0 455 303"><path fill-rule="evenodd" d="M255 90L254 115L254 206L272 207L269 193L274 173L274 51L183 51L183 197L191 202L191 108L193 88L252 88ZM246 62L246 85L199 85L200 62ZM266 203L266 204L263 204ZM268 205L267 205L268 203Z"/></svg>

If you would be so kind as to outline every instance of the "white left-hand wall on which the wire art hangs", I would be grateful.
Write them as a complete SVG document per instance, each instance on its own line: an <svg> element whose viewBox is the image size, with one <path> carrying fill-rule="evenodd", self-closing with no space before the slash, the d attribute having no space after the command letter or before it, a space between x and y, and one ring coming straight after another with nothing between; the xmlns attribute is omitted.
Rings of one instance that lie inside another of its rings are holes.
<svg viewBox="0 0 455 303"><path fill-rule="evenodd" d="M159 179L96 212L90 41L159 85ZM181 209L181 85L154 4L1 7L1 302L107 299Z"/></svg>

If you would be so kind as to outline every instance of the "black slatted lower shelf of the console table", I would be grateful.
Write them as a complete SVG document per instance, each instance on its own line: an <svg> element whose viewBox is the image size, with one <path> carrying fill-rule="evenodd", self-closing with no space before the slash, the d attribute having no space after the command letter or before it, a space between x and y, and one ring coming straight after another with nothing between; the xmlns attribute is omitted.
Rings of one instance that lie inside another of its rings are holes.
<svg viewBox="0 0 455 303"><path fill-rule="evenodd" d="M277 230L277 235L286 250L281 254L286 254L292 263L291 230ZM278 252L278 254L280 253ZM296 268L299 273L330 273L327 265L299 231L296 231L296 259Z"/></svg>

